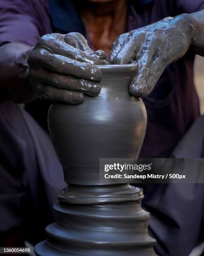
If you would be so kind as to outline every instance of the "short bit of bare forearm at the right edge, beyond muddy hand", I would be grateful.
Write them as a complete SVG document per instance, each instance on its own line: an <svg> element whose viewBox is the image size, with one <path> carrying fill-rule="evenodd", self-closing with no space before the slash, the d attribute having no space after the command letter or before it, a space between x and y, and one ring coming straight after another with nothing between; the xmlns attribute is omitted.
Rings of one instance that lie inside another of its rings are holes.
<svg viewBox="0 0 204 256"><path fill-rule="evenodd" d="M189 14L194 26L191 48L196 54L204 56L204 10Z"/></svg>

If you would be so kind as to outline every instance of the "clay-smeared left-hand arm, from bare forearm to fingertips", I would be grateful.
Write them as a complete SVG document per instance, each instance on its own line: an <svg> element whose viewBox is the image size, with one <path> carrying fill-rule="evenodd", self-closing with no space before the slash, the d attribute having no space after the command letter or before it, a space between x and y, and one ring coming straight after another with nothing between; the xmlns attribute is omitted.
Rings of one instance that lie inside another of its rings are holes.
<svg viewBox="0 0 204 256"><path fill-rule="evenodd" d="M25 103L51 99L80 104L84 95L100 93L103 51L92 51L80 33L47 34L30 48L9 43L0 47L0 100Z"/></svg>

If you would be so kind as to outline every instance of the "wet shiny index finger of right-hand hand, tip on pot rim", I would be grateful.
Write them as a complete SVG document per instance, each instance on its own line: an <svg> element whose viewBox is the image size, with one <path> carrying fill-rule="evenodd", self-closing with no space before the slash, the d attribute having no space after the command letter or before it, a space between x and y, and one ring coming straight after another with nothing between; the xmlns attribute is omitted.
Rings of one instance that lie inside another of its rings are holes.
<svg viewBox="0 0 204 256"><path fill-rule="evenodd" d="M109 63L110 64L120 64L117 59L116 56L117 54L119 53L119 51L122 50L122 48L124 47L124 45L130 40L132 36L132 32L130 33L124 33L122 34L121 36L118 36L116 38L116 40L114 41L113 45L112 45L112 49L111 49L111 52L110 52L110 56L109 56Z"/></svg>

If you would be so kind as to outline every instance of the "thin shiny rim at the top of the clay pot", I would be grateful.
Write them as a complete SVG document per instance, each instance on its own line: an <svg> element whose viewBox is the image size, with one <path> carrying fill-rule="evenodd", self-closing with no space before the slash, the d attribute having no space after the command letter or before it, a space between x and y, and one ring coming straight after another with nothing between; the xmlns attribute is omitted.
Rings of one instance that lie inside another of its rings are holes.
<svg viewBox="0 0 204 256"><path fill-rule="evenodd" d="M135 72L138 68L138 64L136 61L134 61L131 64L121 64L121 65L97 65L102 71L102 73L129 73L129 72Z"/></svg>

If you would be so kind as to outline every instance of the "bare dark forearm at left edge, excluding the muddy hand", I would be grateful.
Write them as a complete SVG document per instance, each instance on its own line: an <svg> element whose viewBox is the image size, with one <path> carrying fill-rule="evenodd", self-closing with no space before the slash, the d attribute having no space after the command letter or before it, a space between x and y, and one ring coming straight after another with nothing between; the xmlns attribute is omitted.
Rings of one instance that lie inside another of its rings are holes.
<svg viewBox="0 0 204 256"><path fill-rule="evenodd" d="M10 43L0 47L0 100L26 103L36 96L30 87L27 59L30 46Z"/></svg>

